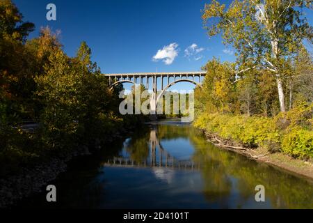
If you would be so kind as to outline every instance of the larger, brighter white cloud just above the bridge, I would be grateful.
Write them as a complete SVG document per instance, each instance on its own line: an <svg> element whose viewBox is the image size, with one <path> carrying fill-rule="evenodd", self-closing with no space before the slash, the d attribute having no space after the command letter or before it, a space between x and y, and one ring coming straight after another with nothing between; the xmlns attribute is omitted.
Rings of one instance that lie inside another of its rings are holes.
<svg viewBox="0 0 313 223"><path fill-rule="evenodd" d="M157 54L153 56L154 61L162 60L166 65L172 64L175 58L178 56L178 44L171 43L163 47L163 49L159 49Z"/></svg>

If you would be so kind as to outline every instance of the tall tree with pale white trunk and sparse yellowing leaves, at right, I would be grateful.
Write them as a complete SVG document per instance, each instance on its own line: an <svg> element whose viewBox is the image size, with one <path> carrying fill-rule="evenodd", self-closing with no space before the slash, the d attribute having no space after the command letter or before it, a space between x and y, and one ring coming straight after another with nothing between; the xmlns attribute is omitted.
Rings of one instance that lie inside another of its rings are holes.
<svg viewBox="0 0 313 223"><path fill-rule="evenodd" d="M271 71L282 112L286 111L282 64L297 53L303 39L312 40L303 8L312 8L312 1L234 0L226 8L212 0L203 10L204 22L211 22L206 26L209 36L222 33L224 43L236 49L237 75L255 67Z"/></svg>

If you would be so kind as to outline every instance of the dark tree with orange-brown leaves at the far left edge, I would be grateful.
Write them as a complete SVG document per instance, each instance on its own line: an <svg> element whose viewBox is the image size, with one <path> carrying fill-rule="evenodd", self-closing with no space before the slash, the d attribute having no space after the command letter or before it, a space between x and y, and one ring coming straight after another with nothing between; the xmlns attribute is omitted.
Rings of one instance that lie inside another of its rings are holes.
<svg viewBox="0 0 313 223"><path fill-rule="evenodd" d="M0 110L1 120L17 121L31 116L33 89L32 54L24 41L34 24L23 16L10 0L0 1Z"/></svg>

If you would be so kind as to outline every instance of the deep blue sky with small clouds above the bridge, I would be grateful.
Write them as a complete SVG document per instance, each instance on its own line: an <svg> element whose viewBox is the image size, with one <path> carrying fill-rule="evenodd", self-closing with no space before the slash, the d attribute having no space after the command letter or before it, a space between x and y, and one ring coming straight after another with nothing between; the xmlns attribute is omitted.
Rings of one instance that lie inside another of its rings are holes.
<svg viewBox="0 0 313 223"><path fill-rule="evenodd" d="M234 61L232 49L222 44L220 36L209 38L203 29L201 10L209 0L13 2L24 21L35 23L30 38L38 36L41 26L61 30L69 56L85 40L104 73L196 71L213 56ZM46 19L48 3L56 5L56 21Z"/></svg>

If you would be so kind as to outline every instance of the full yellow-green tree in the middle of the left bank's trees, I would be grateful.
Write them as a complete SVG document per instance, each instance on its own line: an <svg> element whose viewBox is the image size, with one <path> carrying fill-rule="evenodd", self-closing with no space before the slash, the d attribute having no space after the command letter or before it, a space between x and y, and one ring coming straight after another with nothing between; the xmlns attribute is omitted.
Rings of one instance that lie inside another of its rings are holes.
<svg viewBox="0 0 313 223"><path fill-rule="evenodd" d="M59 49L49 56L50 66L45 75L36 77L38 98L44 105L40 122L45 138L52 148L68 146L77 132L79 100L76 74L69 66L69 58Z"/></svg>

